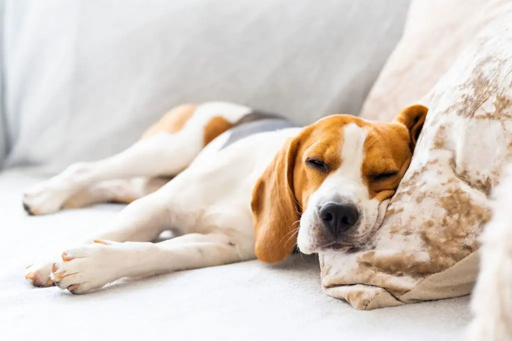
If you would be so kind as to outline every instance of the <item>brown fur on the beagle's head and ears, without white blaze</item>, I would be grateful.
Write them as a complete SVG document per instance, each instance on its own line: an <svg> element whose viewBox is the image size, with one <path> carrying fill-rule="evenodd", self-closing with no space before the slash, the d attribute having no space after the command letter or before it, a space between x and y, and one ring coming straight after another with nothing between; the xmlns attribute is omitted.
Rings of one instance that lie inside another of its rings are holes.
<svg viewBox="0 0 512 341"><path fill-rule="evenodd" d="M395 193L406 172L428 109L414 105L395 123L368 122L349 115L333 115L311 124L276 154L252 191L251 208L256 237L255 253L261 261L284 260L296 242L296 228L310 196L326 177L342 165L343 130L349 123L368 127L362 174L372 198L382 201ZM399 123L399 124L396 124ZM322 171L306 164L321 160ZM375 175L397 171L375 181Z"/></svg>

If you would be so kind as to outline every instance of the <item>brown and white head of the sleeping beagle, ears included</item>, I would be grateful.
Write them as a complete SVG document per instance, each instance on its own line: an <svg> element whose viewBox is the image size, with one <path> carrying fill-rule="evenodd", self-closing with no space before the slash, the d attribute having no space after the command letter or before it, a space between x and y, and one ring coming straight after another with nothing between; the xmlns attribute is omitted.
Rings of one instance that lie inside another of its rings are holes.
<svg viewBox="0 0 512 341"><path fill-rule="evenodd" d="M280 262L295 243L308 254L365 243L407 171L427 112L413 105L391 123L328 116L287 141L252 191L258 259Z"/></svg>

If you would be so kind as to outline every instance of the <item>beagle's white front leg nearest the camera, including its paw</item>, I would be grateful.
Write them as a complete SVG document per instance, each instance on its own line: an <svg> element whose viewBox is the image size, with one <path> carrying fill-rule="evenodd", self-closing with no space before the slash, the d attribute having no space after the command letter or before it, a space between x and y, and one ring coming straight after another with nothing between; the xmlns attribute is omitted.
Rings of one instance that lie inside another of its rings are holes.
<svg viewBox="0 0 512 341"><path fill-rule="evenodd" d="M61 289L84 293L125 276L155 274L240 262L254 257L250 238L211 233L190 234L160 243L95 244L71 249L53 266Z"/></svg>

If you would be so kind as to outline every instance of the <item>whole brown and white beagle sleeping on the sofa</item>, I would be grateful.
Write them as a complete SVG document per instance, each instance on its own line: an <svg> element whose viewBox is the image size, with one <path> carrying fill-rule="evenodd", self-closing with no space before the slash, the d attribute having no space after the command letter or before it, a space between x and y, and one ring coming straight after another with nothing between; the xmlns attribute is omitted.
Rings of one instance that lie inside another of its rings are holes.
<svg viewBox="0 0 512 341"><path fill-rule="evenodd" d="M391 123L333 115L304 128L243 105L186 104L133 146L24 194L31 215L129 205L101 236L27 268L35 286L84 293L125 276L347 252L377 229L427 109ZM153 243L165 230L178 237Z"/></svg>

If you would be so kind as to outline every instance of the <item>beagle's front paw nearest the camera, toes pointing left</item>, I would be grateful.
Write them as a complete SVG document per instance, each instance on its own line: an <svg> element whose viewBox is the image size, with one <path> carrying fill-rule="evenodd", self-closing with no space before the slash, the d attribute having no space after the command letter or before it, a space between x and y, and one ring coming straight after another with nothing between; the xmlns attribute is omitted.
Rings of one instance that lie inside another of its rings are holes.
<svg viewBox="0 0 512 341"><path fill-rule="evenodd" d="M119 279L125 259L118 244L95 241L62 253L51 267L51 279L62 290L81 294Z"/></svg>

